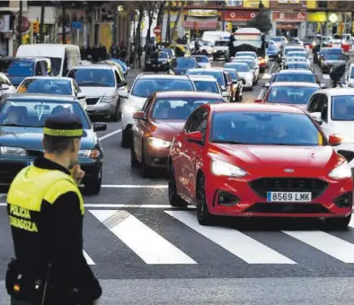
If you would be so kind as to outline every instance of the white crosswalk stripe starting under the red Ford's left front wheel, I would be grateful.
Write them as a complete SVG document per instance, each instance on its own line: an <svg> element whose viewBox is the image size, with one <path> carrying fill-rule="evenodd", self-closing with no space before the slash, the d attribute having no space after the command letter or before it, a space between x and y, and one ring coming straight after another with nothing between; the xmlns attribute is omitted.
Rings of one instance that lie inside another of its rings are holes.
<svg viewBox="0 0 354 305"><path fill-rule="evenodd" d="M232 228L201 226L192 213L164 211L248 264L296 264L288 257Z"/></svg>

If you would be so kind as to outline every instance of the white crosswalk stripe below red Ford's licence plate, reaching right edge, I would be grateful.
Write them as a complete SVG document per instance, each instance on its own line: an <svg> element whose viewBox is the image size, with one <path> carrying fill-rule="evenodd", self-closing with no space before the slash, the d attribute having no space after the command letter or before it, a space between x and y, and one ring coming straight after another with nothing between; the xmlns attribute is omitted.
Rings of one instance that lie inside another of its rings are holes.
<svg viewBox="0 0 354 305"><path fill-rule="evenodd" d="M282 231L305 244L317 248L323 253L341 260L343 263L354 263L354 244L341 240L323 231Z"/></svg>

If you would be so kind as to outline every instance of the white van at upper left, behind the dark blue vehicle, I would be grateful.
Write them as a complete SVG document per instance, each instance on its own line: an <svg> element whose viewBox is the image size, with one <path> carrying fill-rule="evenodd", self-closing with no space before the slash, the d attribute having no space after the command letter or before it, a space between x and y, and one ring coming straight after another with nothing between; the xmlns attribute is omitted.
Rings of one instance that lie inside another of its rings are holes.
<svg viewBox="0 0 354 305"><path fill-rule="evenodd" d="M53 76L66 76L81 61L80 48L78 46L59 44L21 45L17 49L16 57L49 58Z"/></svg>

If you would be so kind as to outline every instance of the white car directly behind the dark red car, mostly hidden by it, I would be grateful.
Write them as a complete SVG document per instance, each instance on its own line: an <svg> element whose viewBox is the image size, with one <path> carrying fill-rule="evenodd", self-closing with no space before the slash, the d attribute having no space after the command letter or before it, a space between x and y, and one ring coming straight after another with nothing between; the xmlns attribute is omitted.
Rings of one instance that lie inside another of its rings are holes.
<svg viewBox="0 0 354 305"><path fill-rule="evenodd" d="M171 91L194 92L196 88L187 75L139 74L130 92L120 92L119 97L123 100L121 114L122 147L129 147L131 145L131 126L135 122L133 114L143 108L146 99L154 92Z"/></svg>

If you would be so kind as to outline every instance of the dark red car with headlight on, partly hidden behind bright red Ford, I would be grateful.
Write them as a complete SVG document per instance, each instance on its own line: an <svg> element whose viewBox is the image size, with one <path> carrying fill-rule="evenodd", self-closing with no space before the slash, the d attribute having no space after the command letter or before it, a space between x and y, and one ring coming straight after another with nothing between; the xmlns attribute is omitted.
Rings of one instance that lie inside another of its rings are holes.
<svg viewBox="0 0 354 305"><path fill-rule="evenodd" d="M131 165L140 164L144 177L155 168L167 169L174 135L183 128L190 113L205 103L224 102L217 93L155 92L147 98L142 111L136 112L132 126Z"/></svg>

